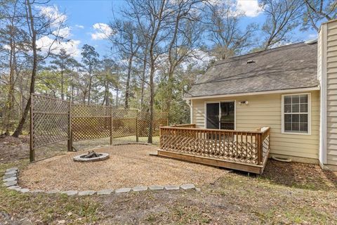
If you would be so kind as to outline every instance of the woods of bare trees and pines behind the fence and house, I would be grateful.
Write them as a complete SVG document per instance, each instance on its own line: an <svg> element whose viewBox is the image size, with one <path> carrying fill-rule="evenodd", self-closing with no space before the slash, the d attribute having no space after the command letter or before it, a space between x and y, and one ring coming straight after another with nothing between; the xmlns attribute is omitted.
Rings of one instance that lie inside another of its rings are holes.
<svg viewBox="0 0 337 225"><path fill-rule="evenodd" d="M333 0L260 0L265 22L242 25L233 2L126 0L109 25L105 56L84 44L74 57L61 44L72 41L65 14L46 1L1 1L1 134L26 130L32 93L138 108L151 120L164 111L171 123L188 123L183 94L214 61L298 41L294 31L318 30L337 15Z"/></svg>

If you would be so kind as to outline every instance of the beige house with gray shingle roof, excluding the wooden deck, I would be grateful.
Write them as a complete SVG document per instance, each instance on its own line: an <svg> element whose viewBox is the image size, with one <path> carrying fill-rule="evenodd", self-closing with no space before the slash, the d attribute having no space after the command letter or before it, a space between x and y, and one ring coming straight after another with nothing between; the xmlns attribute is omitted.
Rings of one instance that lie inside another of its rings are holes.
<svg viewBox="0 0 337 225"><path fill-rule="evenodd" d="M270 155L337 169L337 20L317 41L218 61L185 100L197 128L270 127Z"/></svg>

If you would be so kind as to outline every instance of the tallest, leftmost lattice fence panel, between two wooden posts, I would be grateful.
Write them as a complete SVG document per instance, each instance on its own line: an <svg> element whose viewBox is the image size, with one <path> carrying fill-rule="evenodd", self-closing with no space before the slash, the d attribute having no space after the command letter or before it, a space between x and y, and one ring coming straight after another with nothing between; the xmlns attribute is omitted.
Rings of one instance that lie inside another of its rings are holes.
<svg viewBox="0 0 337 225"><path fill-rule="evenodd" d="M30 160L34 149L59 141L68 141L70 150L70 103L33 94L30 111Z"/></svg>

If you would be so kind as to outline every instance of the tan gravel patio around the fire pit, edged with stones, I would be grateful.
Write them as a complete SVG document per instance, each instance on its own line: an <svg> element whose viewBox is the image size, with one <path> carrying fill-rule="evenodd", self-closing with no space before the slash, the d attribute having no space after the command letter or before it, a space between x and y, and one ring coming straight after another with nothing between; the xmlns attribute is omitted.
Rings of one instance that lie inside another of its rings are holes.
<svg viewBox="0 0 337 225"><path fill-rule="evenodd" d="M30 164L20 172L20 186L32 190L70 191L100 190L134 186L210 184L228 170L179 160L150 156L156 146L122 145L96 148L97 153L109 153L99 162L74 162L67 153Z"/></svg>

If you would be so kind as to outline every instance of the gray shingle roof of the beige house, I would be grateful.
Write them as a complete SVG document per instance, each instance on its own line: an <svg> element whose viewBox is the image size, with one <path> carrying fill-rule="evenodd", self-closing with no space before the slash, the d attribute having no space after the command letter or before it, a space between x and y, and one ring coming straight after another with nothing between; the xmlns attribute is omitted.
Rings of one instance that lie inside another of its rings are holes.
<svg viewBox="0 0 337 225"><path fill-rule="evenodd" d="M247 64L248 60L255 63ZM220 60L185 98L319 86L317 44L303 42Z"/></svg>

